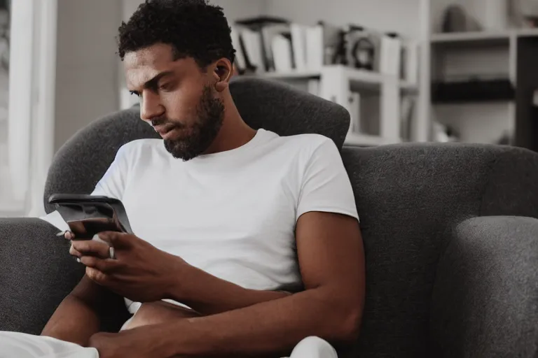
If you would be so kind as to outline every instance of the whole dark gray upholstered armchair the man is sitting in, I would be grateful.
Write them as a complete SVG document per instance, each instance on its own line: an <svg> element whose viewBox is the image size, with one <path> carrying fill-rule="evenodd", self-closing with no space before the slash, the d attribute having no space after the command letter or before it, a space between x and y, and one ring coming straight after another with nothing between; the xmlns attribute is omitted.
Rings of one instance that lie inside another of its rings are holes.
<svg viewBox="0 0 538 358"><path fill-rule="evenodd" d="M343 108L277 83L239 79L244 119L343 145ZM123 143L156 136L137 108L80 131L57 153L45 198L89 193ZM361 335L340 357L537 357L538 155L491 145L342 149L366 249ZM48 211L53 210L46 204ZM0 330L38 334L83 275L54 227L0 220ZM111 302L103 329L127 317Z"/></svg>

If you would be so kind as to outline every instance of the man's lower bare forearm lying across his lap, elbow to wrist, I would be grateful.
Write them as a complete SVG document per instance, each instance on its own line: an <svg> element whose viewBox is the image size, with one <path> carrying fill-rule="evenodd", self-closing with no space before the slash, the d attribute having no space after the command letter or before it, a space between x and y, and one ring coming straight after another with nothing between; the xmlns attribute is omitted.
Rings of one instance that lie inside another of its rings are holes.
<svg viewBox="0 0 538 358"><path fill-rule="evenodd" d="M307 336L331 343L354 339L359 303L355 307L335 297L326 287L310 289L219 315L158 325L150 336L162 342L163 357L282 357Z"/></svg>

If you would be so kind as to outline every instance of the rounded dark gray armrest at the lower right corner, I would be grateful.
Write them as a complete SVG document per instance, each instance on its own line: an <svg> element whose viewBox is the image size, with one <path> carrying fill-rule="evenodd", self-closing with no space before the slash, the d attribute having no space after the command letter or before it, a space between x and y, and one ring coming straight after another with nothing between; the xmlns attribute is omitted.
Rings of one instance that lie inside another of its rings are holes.
<svg viewBox="0 0 538 358"><path fill-rule="evenodd" d="M432 357L534 357L538 220L476 217L455 227L432 293Z"/></svg>

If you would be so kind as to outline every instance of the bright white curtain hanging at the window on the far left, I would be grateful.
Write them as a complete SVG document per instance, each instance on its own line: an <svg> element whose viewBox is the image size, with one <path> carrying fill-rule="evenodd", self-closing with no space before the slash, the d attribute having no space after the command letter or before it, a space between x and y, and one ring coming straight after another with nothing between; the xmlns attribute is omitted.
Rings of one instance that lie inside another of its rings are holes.
<svg viewBox="0 0 538 358"><path fill-rule="evenodd" d="M54 151L57 0L16 0L11 6L8 168L12 199L41 215Z"/></svg>

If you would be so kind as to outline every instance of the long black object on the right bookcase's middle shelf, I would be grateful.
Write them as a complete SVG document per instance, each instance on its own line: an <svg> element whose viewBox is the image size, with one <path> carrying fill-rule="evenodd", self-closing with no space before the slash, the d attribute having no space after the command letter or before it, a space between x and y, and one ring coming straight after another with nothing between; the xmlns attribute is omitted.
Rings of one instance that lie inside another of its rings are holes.
<svg viewBox="0 0 538 358"><path fill-rule="evenodd" d="M467 80L432 85L434 103L509 101L516 91L510 80Z"/></svg>

